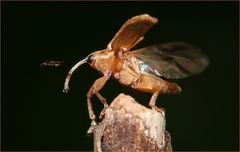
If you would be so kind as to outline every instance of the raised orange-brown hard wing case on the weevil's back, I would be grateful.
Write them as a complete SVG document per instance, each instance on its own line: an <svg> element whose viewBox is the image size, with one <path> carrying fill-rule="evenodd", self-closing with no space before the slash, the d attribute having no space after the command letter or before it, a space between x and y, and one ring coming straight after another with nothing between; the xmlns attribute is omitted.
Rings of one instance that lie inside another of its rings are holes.
<svg viewBox="0 0 240 152"><path fill-rule="evenodd" d="M147 14L138 15L127 20L107 48L114 51L129 51L143 39L144 33L156 24L157 21L158 19Z"/></svg>

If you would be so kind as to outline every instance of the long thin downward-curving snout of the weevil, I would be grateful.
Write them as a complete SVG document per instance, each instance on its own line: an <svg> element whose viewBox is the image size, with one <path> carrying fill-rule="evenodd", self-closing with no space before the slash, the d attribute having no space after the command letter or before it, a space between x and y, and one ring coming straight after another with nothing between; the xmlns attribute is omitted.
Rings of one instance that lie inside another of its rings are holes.
<svg viewBox="0 0 240 152"><path fill-rule="evenodd" d="M64 89L63 89L63 92L64 92L64 93L68 93L68 91L69 91L69 81L70 81L70 79L71 79L71 76L72 76L73 72L74 72L78 67L80 67L82 64L87 63L87 61L88 61L88 57L82 59L82 60L79 61L77 64L75 64L75 65L71 68L71 70L68 72L67 77L66 77L66 79L65 79L65 83L64 83Z"/></svg>

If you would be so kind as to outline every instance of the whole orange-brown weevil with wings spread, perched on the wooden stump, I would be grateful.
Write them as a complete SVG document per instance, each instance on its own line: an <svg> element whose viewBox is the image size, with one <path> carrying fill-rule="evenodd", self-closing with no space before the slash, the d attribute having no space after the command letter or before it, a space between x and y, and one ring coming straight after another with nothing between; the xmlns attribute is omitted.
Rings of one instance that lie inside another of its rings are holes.
<svg viewBox="0 0 240 152"><path fill-rule="evenodd" d="M183 42L153 45L130 51L143 40L144 33L157 22L156 18L147 14L127 20L106 49L91 53L69 71L64 84L64 92L69 90L68 84L72 73L84 63L88 63L103 74L87 93L89 117L92 120L89 132L95 125L91 97L95 94L104 104L100 117L103 116L108 104L99 91L111 76L123 85L152 93L149 105L152 109L161 111L155 106L159 94L181 92L181 88L177 84L162 78L184 78L199 73L207 67L207 57L199 49Z"/></svg>

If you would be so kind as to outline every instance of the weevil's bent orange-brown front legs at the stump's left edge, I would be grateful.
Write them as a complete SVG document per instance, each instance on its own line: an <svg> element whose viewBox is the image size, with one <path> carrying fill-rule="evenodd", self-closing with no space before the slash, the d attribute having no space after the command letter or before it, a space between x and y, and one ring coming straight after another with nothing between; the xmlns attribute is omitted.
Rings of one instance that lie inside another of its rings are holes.
<svg viewBox="0 0 240 152"><path fill-rule="evenodd" d="M105 85L105 83L107 82L107 80L109 79L110 76L111 76L111 74L106 74L103 77L97 79L87 93L88 112L89 112L89 117L92 120L91 126L88 129L89 134L93 132L94 126L96 125L96 122L95 122L96 116L92 109L91 98L95 94L98 97L98 99L104 104L104 109L101 112L101 115L103 115L103 112L108 107L108 104L106 102L106 99L104 99L100 95L99 91Z"/></svg>

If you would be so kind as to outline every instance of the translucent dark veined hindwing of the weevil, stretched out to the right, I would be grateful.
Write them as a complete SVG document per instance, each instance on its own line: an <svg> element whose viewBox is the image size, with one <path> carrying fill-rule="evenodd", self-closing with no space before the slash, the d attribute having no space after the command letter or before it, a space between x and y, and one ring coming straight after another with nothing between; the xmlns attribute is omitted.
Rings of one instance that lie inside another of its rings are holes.
<svg viewBox="0 0 240 152"><path fill-rule="evenodd" d="M183 42L153 45L133 53L142 73L170 79L200 73L209 64L208 58L200 49Z"/></svg>

